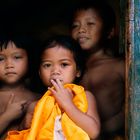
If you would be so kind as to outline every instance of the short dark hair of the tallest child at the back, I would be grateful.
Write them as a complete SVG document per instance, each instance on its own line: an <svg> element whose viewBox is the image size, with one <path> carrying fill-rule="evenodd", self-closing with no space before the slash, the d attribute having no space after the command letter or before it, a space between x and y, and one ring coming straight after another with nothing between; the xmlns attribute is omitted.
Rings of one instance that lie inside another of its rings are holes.
<svg viewBox="0 0 140 140"><path fill-rule="evenodd" d="M82 0L74 8L72 12L71 25L75 17L75 13L79 10L94 9L103 21L104 30L110 33L112 28L116 26L116 15L113 8L102 0Z"/></svg>

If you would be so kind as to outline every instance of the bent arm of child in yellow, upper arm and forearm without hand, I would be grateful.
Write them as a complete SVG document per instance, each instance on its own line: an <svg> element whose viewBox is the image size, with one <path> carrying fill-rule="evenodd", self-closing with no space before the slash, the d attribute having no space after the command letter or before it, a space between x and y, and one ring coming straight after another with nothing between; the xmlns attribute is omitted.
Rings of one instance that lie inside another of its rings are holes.
<svg viewBox="0 0 140 140"><path fill-rule="evenodd" d="M97 113L95 98L87 92L88 112L81 112L74 104L65 107L67 115L87 134L90 138L95 139L100 132L100 121ZM80 117L79 117L80 116Z"/></svg>

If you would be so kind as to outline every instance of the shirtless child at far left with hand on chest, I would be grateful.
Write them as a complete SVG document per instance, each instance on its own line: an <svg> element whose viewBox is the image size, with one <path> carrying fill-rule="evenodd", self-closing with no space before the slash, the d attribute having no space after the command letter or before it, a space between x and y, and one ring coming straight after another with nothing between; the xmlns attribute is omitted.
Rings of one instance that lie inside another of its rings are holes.
<svg viewBox="0 0 140 140"><path fill-rule="evenodd" d="M0 40L1 140L5 139L8 130L21 127L28 105L37 100L37 95L25 84L29 66L27 48L31 46L27 40L22 39L7 37Z"/></svg>

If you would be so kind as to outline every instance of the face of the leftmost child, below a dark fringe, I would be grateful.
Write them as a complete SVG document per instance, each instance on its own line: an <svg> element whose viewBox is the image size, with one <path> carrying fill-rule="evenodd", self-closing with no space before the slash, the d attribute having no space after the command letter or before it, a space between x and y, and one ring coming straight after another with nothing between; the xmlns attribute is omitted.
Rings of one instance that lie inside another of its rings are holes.
<svg viewBox="0 0 140 140"><path fill-rule="evenodd" d="M27 65L26 51L9 42L6 49L0 50L0 81L15 84L26 74Z"/></svg>

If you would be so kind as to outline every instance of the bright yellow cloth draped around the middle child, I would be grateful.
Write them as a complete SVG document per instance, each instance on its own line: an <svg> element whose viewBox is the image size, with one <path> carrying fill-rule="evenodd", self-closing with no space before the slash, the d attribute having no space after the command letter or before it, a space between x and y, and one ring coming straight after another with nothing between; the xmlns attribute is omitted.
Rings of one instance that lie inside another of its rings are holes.
<svg viewBox="0 0 140 140"><path fill-rule="evenodd" d="M84 88L75 84L66 84L64 87L70 88L75 93L74 104L86 113L88 103ZM22 131L10 131L6 140L54 140L54 122L59 115L62 115L61 125L66 140L90 139L87 133L78 127L65 112L61 112L48 90L35 107L31 128Z"/></svg>

